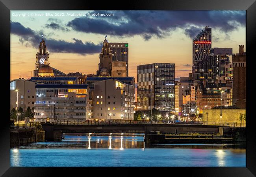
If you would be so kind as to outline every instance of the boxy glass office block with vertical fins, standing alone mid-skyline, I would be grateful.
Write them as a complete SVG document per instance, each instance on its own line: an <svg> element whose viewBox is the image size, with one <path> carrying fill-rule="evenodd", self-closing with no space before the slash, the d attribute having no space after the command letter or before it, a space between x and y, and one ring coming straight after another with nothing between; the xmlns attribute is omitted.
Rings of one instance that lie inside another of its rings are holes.
<svg viewBox="0 0 256 177"><path fill-rule="evenodd" d="M174 63L137 66L137 101L141 109L174 111Z"/></svg>

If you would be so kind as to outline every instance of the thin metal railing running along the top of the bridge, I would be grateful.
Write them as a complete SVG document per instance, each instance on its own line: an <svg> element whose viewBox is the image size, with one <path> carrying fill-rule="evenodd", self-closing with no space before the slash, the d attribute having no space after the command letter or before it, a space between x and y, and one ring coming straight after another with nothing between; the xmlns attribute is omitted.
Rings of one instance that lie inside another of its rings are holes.
<svg viewBox="0 0 256 177"><path fill-rule="evenodd" d="M187 124L187 125L218 125L226 127L246 127L246 124L236 122L206 122L206 121L150 121L150 120L45 120L43 124L56 125L106 125L106 124Z"/></svg>

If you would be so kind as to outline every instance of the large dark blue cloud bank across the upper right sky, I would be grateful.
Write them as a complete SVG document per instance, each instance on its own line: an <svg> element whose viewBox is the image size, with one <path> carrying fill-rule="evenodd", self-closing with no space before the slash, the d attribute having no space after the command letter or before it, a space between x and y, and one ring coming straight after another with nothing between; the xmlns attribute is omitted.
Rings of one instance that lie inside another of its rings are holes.
<svg viewBox="0 0 256 177"><path fill-rule="evenodd" d="M178 28L193 39L204 26L224 33L245 26L245 11L91 11L114 16L78 17L68 22L73 30L119 37L141 35L146 41L167 37Z"/></svg>

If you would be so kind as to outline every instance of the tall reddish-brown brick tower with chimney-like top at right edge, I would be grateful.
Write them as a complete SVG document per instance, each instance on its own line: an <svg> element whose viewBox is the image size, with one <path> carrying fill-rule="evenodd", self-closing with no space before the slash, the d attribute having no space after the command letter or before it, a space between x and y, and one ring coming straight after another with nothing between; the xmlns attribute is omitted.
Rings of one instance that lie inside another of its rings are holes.
<svg viewBox="0 0 256 177"><path fill-rule="evenodd" d="M246 52L239 45L239 53L232 55L233 65L233 101L239 108L246 108Z"/></svg>

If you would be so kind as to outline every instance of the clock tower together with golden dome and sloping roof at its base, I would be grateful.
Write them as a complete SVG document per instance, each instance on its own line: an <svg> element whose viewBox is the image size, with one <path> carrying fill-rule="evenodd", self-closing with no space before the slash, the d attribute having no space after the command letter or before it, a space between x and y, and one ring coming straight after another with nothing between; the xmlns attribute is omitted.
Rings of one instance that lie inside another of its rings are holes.
<svg viewBox="0 0 256 177"><path fill-rule="evenodd" d="M42 35L42 39L40 40L38 47L38 52L36 53L35 70L33 71L33 76L44 77L53 75L65 75L65 73L50 67L49 64L49 53L47 52L45 39L43 39Z"/></svg>

